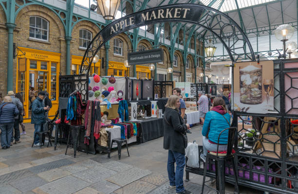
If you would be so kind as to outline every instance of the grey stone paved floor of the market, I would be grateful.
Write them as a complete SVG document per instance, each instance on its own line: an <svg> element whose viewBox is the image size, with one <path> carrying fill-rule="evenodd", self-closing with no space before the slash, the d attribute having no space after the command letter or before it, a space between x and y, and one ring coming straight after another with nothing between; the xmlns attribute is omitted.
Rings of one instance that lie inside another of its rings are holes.
<svg viewBox="0 0 298 194"><path fill-rule="evenodd" d="M189 141L201 142L201 125L192 127ZM31 148L33 125L26 124L27 135L8 150L0 149L0 194L175 194L168 188L167 159L163 138L129 145L130 157L122 149L121 160L113 150L107 154L86 155L73 149L65 153L65 144ZM185 182L193 194L201 191L202 176L190 174ZM210 185L212 186L212 185ZM214 185L213 185L214 186ZM240 187L241 194L263 192ZM226 183L226 193L234 186ZM206 194L213 191L205 189Z"/></svg>

